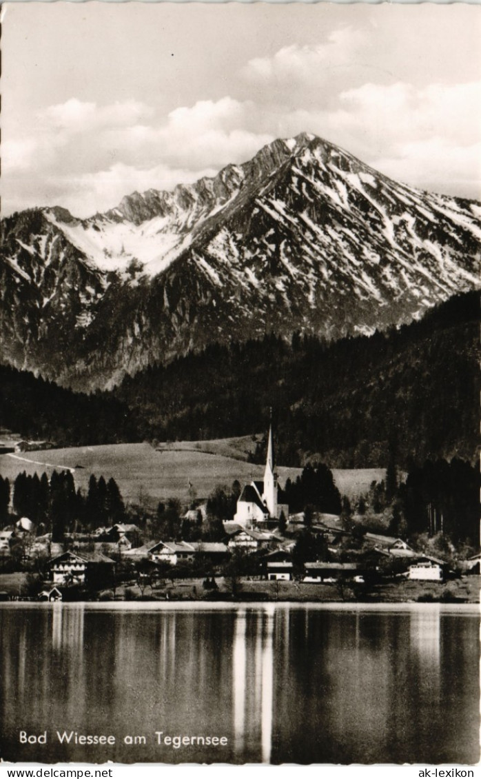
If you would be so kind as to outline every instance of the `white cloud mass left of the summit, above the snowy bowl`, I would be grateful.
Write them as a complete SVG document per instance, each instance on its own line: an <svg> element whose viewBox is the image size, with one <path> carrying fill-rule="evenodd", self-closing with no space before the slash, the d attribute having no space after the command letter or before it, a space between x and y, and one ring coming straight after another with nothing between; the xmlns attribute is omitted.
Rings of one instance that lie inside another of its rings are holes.
<svg viewBox="0 0 481 779"><path fill-rule="evenodd" d="M34 136L2 148L3 210L61 204L87 217L135 189L172 189L214 175L273 140L255 132L256 114L255 104L230 97L177 108L163 121L132 101L51 106L38 116Z"/></svg>

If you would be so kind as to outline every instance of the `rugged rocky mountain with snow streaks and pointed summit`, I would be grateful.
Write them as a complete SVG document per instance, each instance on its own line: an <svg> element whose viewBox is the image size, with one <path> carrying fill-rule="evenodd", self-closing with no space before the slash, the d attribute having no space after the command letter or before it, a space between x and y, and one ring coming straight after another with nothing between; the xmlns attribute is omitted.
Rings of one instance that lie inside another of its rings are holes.
<svg viewBox="0 0 481 779"><path fill-rule="evenodd" d="M93 390L214 341L409 323L479 287L480 215L307 134L90 219L16 213L2 222L2 361Z"/></svg>

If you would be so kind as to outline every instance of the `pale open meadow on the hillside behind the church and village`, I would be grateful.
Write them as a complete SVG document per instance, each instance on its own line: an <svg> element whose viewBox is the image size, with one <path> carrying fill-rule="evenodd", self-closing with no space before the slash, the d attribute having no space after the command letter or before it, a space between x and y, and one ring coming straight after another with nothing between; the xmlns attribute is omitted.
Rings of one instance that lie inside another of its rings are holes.
<svg viewBox="0 0 481 779"><path fill-rule="evenodd" d="M139 502L142 495L155 507L170 497L187 502L195 494L206 498L217 485L230 486L234 479L241 485L252 478L262 479L263 465L247 462L248 451L255 445L251 436L216 441L185 441L160 444L113 444L79 446L0 456L0 475L13 481L22 471L50 476L54 469L72 470L77 488L88 487L90 474L107 480L114 477L126 502ZM300 468L278 467L279 483L295 479ZM367 492L371 481L381 481L384 471L377 468L332 471L342 495L349 499ZM189 483L192 487L189 487Z"/></svg>

